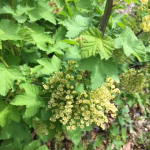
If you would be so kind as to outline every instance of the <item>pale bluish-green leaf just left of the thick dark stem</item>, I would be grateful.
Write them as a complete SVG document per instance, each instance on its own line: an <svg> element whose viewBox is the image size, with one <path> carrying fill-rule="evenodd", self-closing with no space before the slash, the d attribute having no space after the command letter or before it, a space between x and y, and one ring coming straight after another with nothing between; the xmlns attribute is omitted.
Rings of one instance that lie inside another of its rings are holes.
<svg viewBox="0 0 150 150"><path fill-rule="evenodd" d="M66 37L75 38L80 34L81 31L88 29L91 21L91 18L77 15L76 17L68 18L67 20L62 21L61 23L68 30Z"/></svg>

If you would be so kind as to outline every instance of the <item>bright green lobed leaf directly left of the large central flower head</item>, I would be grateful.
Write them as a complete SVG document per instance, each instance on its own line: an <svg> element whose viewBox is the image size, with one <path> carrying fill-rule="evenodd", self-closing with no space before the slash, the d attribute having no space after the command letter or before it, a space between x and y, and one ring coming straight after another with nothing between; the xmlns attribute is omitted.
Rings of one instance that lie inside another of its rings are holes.
<svg viewBox="0 0 150 150"><path fill-rule="evenodd" d="M12 101L12 105L26 106L25 117L34 116L40 107L43 107L42 98L40 98L41 89L33 84L23 84L25 93L17 95Z"/></svg>

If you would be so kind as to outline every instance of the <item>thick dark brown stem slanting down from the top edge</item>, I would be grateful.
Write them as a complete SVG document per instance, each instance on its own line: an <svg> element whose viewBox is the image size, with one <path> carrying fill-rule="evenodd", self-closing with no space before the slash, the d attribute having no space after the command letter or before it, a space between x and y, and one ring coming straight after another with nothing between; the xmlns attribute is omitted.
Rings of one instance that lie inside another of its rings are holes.
<svg viewBox="0 0 150 150"><path fill-rule="evenodd" d="M103 35L105 33L106 26L107 26L107 23L109 21L109 18L112 12L112 7L113 7L113 0L107 0L104 14L101 17L100 22L99 22L99 29L100 31L102 31Z"/></svg>

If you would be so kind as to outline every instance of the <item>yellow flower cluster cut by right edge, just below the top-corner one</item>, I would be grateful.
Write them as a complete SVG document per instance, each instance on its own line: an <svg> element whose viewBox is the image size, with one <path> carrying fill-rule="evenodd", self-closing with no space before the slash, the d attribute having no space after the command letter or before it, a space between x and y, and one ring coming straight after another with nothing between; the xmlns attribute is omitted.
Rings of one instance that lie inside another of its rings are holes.
<svg viewBox="0 0 150 150"><path fill-rule="evenodd" d="M143 29L144 32L149 32L150 30L150 15L144 16L142 18L142 23L140 25L141 29Z"/></svg>

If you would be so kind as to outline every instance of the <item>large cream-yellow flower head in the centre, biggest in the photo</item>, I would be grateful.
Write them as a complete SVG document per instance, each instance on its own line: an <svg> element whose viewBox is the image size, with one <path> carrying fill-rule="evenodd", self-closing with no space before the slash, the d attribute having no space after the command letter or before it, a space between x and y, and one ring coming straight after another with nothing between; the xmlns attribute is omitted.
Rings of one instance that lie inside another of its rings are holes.
<svg viewBox="0 0 150 150"><path fill-rule="evenodd" d="M48 109L52 112L50 121L55 123L59 120L67 130L83 129L92 124L104 129L108 122L107 114L116 116L117 108L111 101L119 89L115 88L111 78L107 78L100 88L90 90L89 79L85 72L77 71L77 66L75 61L68 61L62 71L56 72L43 85L47 92L51 92L48 102ZM78 90L80 86L84 89Z"/></svg>

